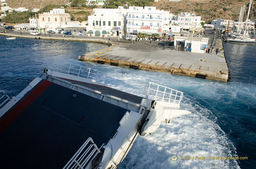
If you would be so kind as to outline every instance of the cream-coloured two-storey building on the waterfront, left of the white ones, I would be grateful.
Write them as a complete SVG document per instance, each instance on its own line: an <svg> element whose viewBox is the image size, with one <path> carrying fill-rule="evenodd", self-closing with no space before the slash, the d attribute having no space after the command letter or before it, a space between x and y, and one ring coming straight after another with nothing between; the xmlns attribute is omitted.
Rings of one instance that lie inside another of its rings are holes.
<svg viewBox="0 0 256 169"><path fill-rule="evenodd" d="M39 14L40 28L65 28L71 22L71 15L65 13L65 9L53 9L50 12Z"/></svg>

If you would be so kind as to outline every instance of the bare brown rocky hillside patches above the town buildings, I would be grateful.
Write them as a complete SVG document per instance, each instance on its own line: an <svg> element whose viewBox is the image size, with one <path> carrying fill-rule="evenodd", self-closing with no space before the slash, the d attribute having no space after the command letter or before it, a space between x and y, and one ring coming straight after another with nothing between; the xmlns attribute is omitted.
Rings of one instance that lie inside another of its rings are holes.
<svg viewBox="0 0 256 169"><path fill-rule="evenodd" d="M254 0L255 2L256 0ZM48 4L65 5L69 0L8 0L7 3L11 8L43 8ZM193 12L202 17L205 22L212 19L238 19L240 8L244 4L248 4L249 0L159 0L153 2L152 6L157 9L170 11L172 14L180 12ZM256 3L254 3L256 4ZM74 8L75 9L75 8ZM68 8L73 11L73 9ZM83 9L80 9L83 10ZM77 10L76 10L77 11Z"/></svg>

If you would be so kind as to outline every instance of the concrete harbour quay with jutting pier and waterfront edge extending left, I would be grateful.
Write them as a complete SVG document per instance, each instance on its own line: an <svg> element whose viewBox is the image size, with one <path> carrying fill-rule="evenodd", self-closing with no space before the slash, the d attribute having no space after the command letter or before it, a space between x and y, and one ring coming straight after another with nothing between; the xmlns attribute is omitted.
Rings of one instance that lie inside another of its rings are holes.
<svg viewBox="0 0 256 169"><path fill-rule="evenodd" d="M27 33L27 32L25 32ZM22 35L20 31L8 31L0 35L37 38L47 40L73 40L88 41L108 44L103 50L92 51L78 56L78 60L99 64L109 64L111 66L129 67L130 69L162 71L184 76L194 76L204 79L222 80L229 79L228 65L225 60L225 53L192 53L177 51L175 48L167 47L166 41L140 40L135 43L124 43L113 40L113 38L85 37L61 34L51 35ZM222 40L217 34L208 33L210 38L208 47L223 48Z"/></svg>

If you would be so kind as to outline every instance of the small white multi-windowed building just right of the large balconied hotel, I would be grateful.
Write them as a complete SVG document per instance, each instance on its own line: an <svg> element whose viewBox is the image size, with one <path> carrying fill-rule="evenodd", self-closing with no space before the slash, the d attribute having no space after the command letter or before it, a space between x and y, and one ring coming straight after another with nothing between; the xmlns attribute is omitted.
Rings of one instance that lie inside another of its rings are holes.
<svg viewBox="0 0 256 169"><path fill-rule="evenodd" d="M183 30L190 30L190 28L201 28L201 17L189 12L183 12L177 16L177 24Z"/></svg>

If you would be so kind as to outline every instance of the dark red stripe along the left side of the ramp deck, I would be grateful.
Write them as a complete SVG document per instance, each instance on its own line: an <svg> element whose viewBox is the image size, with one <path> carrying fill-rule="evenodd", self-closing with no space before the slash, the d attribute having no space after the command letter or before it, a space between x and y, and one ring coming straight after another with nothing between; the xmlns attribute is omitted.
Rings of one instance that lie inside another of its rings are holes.
<svg viewBox="0 0 256 169"><path fill-rule="evenodd" d="M0 132L4 131L4 129L7 128L7 126L9 126L22 112L24 112L25 109L27 109L28 106L30 106L31 103L33 103L34 100L36 100L50 85L52 85L52 82L44 80L26 98L21 100L15 108L1 119Z"/></svg>

